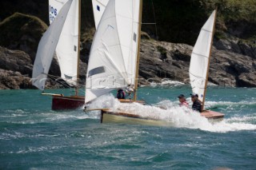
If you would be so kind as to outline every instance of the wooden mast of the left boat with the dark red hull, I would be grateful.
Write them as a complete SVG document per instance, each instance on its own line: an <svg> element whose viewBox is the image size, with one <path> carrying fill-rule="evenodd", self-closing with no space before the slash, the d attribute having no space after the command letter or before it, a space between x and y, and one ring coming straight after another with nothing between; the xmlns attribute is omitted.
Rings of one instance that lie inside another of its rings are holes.
<svg viewBox="0 0 256 170"><path fill-rule="evenodd" d="M78 96L78 80L79 80L79 60L80 60L80 35L81 35L81 0L78 0L78 70L77 85L75 87L75 96Z"/></svg>

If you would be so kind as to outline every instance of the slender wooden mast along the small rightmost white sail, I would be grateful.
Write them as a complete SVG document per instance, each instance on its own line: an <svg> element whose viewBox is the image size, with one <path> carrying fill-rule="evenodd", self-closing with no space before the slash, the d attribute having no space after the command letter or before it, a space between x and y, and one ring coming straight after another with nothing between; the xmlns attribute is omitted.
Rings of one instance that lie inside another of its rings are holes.
<svg viewBox="0 0 256 170"><path fill-rule="evenodd" d="M217 15L217 8L214 14L214 25L213 25L213 33L211 35L211 42L210 42L210 51L209 51L209 58L208 58L208 64L207 64L207 72L206 72L206 83L205 83L205 89L204 89L204 95L202 97L202 110L204 109L205 106L205 101L206 101L206 86L207 86L207 82L208 82L208 77L209 77L209 69L210 69L210 57L211 57L211 49L212 49L212 45L214 42L214 32L215 32L215 23L216 23L216 15Z"/></svg>

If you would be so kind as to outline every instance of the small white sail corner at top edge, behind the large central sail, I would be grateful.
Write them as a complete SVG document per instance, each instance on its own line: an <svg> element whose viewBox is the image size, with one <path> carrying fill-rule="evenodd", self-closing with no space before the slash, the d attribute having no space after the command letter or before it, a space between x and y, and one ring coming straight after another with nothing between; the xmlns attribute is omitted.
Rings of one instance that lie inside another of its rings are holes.
<svg viewBox="0 0 256 170"><path fill-rule="evenodd" d="M98 23L102 18L102 14L104 13L108 2L109 0L92 0L94 10L94 22L96 29L98 28Z"/></svg>

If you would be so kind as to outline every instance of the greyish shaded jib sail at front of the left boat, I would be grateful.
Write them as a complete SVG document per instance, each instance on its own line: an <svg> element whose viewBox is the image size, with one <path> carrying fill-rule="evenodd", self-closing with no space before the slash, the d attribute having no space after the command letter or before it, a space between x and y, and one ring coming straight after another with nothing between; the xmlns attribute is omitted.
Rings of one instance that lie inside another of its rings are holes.
<svg viewBox="0 0 256 170"><path fill-rule="evenodd" d="M54 56L54 51L72 2L73 0L66 2L39 42L32 73L32 84L38 87L38 89L43 90L45 88L46 78Z"/></svg>

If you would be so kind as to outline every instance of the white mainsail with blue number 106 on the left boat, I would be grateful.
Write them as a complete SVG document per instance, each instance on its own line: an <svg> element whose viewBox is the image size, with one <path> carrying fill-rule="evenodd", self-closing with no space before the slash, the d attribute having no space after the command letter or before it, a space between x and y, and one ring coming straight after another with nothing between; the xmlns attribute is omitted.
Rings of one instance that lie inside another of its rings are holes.
<svg viewBox="0 0 256 170"><path fill-rule="evenodd" d="M67 0L49 0L50 23L54 21L58 11L62 9L63 4L66 2ZM61 77L70 85L77 84L78 75L78 31L80 29L78 28L78 8L78 0L74 0L70 6L55 50L62 73Z"/></svg>

